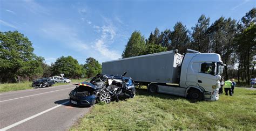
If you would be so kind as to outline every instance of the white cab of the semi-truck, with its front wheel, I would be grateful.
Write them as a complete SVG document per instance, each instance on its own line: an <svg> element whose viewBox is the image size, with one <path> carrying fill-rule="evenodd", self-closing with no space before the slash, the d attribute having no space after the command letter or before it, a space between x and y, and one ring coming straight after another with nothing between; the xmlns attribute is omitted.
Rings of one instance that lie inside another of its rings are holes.
<svg viewBox="0 0 256 131"><path fill-rule="evenodd" d="M219 99L218 90L225 66L219 54L187 53L181 65L179 86L186 88L185 97L192 97L192 99L203 97L205 100ZM203 96L200 96L202 94Z"/></svg>

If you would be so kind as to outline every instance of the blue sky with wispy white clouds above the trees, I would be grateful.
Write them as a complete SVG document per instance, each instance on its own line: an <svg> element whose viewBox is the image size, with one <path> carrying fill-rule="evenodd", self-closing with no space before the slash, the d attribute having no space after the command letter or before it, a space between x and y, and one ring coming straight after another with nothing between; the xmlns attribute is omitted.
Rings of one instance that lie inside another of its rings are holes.
<svg viewBox="0 0 256 131"><path fill-rule="evenodd" d="M68 1L0 0L0 31L19 31L46 63L71 55L84 64L121 57L134 30L148 38L154 28L173 29L181 21L191 30L201 14L240 20L254 0Z"/></svg>

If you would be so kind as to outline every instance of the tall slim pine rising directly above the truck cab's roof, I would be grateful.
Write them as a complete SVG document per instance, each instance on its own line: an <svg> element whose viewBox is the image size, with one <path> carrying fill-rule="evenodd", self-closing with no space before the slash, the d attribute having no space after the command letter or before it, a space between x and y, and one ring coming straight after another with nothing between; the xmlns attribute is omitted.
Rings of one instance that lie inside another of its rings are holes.
<svg viewBox="0 0 256 131"><path fill-rule="evenodd" d="M192 27L192 43L191 48L198 50L199 52L208 52L209 37L208 27L210 24L210 18L206 18L204 14L198 19L198 23L195 27Z"/></svg>

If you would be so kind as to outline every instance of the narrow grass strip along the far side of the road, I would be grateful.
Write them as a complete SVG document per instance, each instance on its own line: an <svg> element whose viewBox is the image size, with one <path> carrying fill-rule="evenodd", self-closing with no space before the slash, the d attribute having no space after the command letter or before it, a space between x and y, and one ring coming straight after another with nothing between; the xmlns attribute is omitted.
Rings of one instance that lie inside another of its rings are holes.
<svg viewBox="0 0 256 131"><path fill-rule="evenodd" d="M65 84L69 84L69 83L56 83L52 86L65 85ZM0 84L0 92L26 90L26 89L32 89L32 82Z"/></svg>

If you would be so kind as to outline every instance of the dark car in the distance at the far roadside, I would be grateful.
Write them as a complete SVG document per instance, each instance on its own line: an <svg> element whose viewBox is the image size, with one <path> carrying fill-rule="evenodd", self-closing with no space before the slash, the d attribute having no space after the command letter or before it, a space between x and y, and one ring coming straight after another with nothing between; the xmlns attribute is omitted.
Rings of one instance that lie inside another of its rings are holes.
<svg viewBox="0 0 256 131"><path fill-rule="evenodd" d="M41 78L41 79L37 79L36 81L33 81L32 87L45 88L45 87L52 86L53 84L55 84L53 80L50 80L48 78Z"/></svg>

